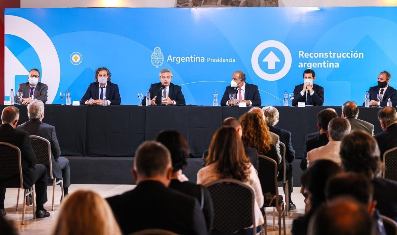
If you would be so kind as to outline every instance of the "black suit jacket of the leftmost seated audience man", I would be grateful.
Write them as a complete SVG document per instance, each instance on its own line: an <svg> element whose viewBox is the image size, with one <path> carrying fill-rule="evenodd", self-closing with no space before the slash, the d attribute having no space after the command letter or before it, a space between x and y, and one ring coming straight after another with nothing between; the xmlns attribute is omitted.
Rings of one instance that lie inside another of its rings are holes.
<svg viewBox="0 0 397 235"><path fill-rule="evenodd" d="M21 150L23 185L25 189L29 189L36 181L36 155L30 142L29 133L14 129L9 124L2 124L0 126L0 142L13 144ZM19 175L15 178L18 179L17 182L19 183Z"/></svg>

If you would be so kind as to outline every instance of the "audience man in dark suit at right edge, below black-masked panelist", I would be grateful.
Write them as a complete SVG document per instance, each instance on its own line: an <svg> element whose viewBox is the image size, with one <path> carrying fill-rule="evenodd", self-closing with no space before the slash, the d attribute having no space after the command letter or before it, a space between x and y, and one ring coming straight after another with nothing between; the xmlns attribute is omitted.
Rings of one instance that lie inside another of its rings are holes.
<svg viewBox="0 0 397 235"><path fill-rule="evenodd" d="M384 107L378 111L378 119L383 131L375 135L380 150L380 159L383 161L383 154L397 147L397 112L395 108Z"/></svg>

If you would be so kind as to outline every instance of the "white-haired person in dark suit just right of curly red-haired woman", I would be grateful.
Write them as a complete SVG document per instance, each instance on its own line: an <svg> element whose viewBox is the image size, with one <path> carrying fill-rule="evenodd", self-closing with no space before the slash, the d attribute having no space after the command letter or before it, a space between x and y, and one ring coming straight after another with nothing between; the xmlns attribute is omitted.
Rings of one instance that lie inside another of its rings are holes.
<svg viewBox="0 0 397 235"><path fill-rule="evenodd" d="M265 115L266 123L269 127L270 133L275 133L276 135L279 136L280 142L285 144L285 177L289 181L289 209L290 210L295 210L297 207L295 204L293 204L291 200L291 193L293 192L293 178L292 178L292 162L295 159L295 150L292 147L292 141L291 141L291 132L275 127L275 125L278 123L278 118L279 118L279 113L276 108L273 106L266 106L262 108L262 111ZM284 166L280 166L280 172L283 171ZM284 178L284 174L279 173L278 174L278 181L282 181ZM285 183L283 183L283 189L285 193Z"/></svg>

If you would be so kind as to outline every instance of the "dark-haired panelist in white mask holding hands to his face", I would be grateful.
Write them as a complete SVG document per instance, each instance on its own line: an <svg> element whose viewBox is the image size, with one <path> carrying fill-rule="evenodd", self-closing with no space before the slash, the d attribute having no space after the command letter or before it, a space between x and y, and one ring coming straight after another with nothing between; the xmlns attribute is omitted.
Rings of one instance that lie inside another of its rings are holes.
<svg viewBox="0 0 397 235"><path fill-rule="evenodd" d="M294 89L295 98L292 105L297 106L298 102L304 102L306 105L321 106L324 103L324 88L313 84L316 80L316 73L311 69L303 72L303 82Z"/></svg>

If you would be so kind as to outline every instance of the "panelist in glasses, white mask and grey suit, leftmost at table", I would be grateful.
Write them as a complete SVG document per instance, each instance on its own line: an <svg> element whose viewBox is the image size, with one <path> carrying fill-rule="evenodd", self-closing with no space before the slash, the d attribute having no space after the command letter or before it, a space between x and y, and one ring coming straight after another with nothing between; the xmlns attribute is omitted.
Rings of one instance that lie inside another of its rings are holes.
<svg viewBox="0 0 397 235"><path fill-rule="evenodd" d="M47 90L48 86L44 83L40 83L40 71L39 69L31 69L27 76L28 82L19 84L18 91L22 92L21 103L29 104L32 101L41 100L43 103L47 101ZM34 100L32 100L32 96ZM20 103L20 100L15 93L14 102Z"/></svg>

